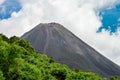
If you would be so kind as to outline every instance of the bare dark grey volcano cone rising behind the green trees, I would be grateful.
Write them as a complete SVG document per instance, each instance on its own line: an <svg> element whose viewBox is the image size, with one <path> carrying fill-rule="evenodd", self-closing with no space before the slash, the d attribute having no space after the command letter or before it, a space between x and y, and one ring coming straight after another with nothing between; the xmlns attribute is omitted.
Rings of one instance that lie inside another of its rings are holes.
<svg viewBox="0 0 120 80"><path fill-rule="evenodd" d="M22 38L28 40L38 52L44 52L70 68L91 70L105 77L120 76L118 65L99 54L60 24L39 24Z"/></svg>

